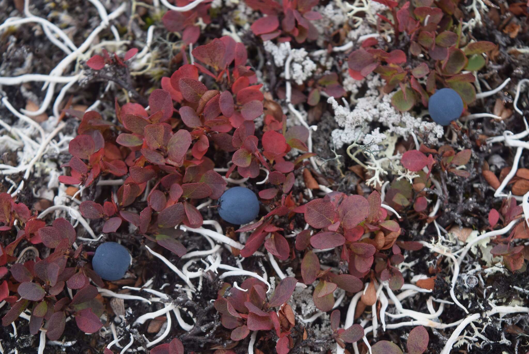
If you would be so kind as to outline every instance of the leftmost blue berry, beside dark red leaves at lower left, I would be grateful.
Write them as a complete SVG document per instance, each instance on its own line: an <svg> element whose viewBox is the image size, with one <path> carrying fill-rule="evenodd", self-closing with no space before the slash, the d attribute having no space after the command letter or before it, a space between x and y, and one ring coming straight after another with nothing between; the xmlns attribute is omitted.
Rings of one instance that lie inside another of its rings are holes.
<svg viewBox="0 0 529 354"><path fill-rule="evenodd" d="M116 242L99 245L92 259L92 267L105 280L120 280L131 264L129 251Z"/></svg>

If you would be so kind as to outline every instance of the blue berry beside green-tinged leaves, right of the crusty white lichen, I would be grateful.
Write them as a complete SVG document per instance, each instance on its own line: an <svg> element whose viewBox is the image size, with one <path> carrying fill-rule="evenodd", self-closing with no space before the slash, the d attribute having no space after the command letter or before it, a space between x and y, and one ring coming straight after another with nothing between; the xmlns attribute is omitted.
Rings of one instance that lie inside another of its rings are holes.
<svg viewBox="0 0 529 354"><path fill-rule="evenodd" d="M452 120L461 117L463 100L452 89L437 90L428 101L428 110L434 122L448 126Z"/></svg>

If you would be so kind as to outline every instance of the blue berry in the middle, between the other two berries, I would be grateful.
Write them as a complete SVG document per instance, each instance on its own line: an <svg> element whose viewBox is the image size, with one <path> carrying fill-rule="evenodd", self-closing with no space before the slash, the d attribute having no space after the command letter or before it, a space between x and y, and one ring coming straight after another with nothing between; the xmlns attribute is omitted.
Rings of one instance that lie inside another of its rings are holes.
<svg viewBox="0 0 529 354"><path fill-rule="evenodd" d="M259 215L256 193L245 187L233 187L218 200L218 215L235 225L248 224Z"/></svg>

